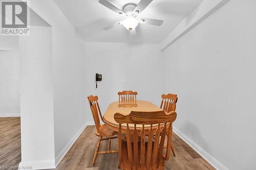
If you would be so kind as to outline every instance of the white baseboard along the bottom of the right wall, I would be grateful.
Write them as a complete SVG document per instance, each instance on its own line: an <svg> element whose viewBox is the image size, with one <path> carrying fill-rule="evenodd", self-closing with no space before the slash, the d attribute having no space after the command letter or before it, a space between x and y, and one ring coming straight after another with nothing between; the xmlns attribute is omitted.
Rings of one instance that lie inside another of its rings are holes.
<svg viewBox="0 0 256 170"><path fill-rule="evenodd" d="M173 127L174 133L176 133L182 140L184 140L191 148L193 148L199 155L201 155L209 164L214 166L217 170L229 170L226 166L224 166L221 162L216 160L206 151L204 151L199 145L197 145L193 140L189 139L186 135L184 135L181 131Z"/></svg>

